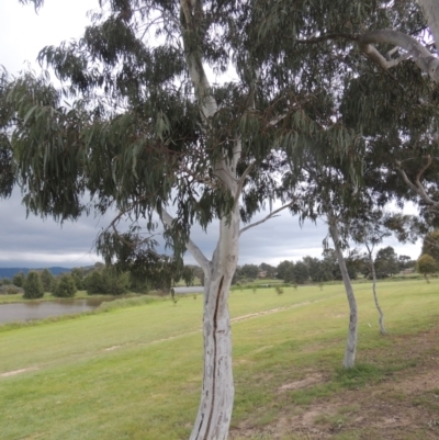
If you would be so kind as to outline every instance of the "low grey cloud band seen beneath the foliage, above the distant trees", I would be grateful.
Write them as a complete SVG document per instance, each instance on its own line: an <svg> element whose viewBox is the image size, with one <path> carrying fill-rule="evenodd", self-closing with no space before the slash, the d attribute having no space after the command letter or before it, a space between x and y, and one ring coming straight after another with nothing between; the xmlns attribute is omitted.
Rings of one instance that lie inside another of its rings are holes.
<svg viewBox="0 0 439 440"><path fill-rule="evenodd" d="M262 218L262 212L255 218ZM15 192L11 199L0 200L0 266L1 267L78 267L93 264L100 259L92 245L98 233L109 225L111 215L95 218L82 217L66 222L63 226L47 218L30 215ZM323 222L306 222L302 227L297 217L289 213L256 226L240 237L239 264L267 262L273 266L283 260L297 260L305 256L320 258L327 228ZM218 238L218 223L204 233L199 226L192 228L191 237L207 258L212 257ZM382 246L393 246L397 253L417 258L420 245L399 245L387 239ZM381 247L381 246L380 246ZM188 252L187 263L194 263Z"/></svg>

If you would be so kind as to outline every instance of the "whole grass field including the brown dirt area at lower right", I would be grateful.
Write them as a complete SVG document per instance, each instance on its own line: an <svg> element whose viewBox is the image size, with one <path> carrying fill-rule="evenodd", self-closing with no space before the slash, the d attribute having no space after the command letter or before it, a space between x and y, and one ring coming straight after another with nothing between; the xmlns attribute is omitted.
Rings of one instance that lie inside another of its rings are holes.
<svg viewBox="0 0 439 440"><path fill-rule="evenodd" d="M358 366L340 369L341 285L234 291L230 439L439 438L439 282L371 285L359 303ZM202 296L0 329L1 440L177 440L194 421Z"/></svg>

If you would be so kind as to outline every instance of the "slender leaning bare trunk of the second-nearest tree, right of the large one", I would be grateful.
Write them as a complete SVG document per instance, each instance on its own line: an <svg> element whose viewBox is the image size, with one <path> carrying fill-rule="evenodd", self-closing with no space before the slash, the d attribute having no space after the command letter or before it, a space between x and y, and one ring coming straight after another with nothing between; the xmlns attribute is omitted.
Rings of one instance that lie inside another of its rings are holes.
<svg viewBox="0 0 439 440"><path fill-rule="evenodd" d="M337 219L334 214L328 213L329 232L334 240L334 247L337 255L338 266L340 268L341 278L344 280L346 295L349 303L349 330L348 340L346 343L345 358L342 365L346 369L350 369L356 363L357 352L357 332L358 332L358 313L357 313L357 301L353 295L352 283L350 282L348 269L346 267L345 257L340 247L340 235L338 233Z"/></svg>

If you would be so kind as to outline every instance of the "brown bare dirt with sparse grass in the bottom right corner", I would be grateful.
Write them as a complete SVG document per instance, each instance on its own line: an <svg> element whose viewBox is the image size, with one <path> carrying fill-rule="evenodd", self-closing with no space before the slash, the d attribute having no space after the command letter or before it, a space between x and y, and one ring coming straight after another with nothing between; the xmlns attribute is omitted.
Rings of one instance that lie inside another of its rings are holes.
<svg viewBox="0 0 439 440"><path fill-rule="evenodd" d="M401 360L408 366L378 383L344 390L309 405L284 407L269 425L244 420L232 430L232 439L439 439L439 327L409 337L390 337L387 351L363 353L373 359ZM364 361L364 359L362 359ZM315 371L301 381L285 383L278 392L312 388L328 381Z"/></svg>

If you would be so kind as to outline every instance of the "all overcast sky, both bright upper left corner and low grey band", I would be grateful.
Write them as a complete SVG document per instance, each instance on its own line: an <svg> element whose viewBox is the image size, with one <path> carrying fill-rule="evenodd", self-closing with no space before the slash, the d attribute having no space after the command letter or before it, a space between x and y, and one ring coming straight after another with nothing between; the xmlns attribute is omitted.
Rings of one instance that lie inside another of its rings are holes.
<svg viewBox="0 0 439 440"><path fill-rule="evenodd" d="M98 8L98 0L46 0L36 14L31 5L23 7L18 0L0 1L0 65L14 75L26 68L27 63L38 71L35 63L38 50L81 36L89 23L86 14L91 8ZM15 191L11 199L0 200L0 267L93 264L100 261L92 248L93 240L109 221L110 216L90 216L60 226L49 218L43 221L33 215L26 218L20 191ZM192 235L207 258L217 240L214 226L209 234L195 228ZM277 266L307 255L320 257L326 233L323 223L307 223L301 228L297 218L283 214L243 234L239 264ZM420 253L419 244L401 246L389 239L383 246L393 246L397 253L414 259ZM193 263L189 255L185 260Z"/></svg>

